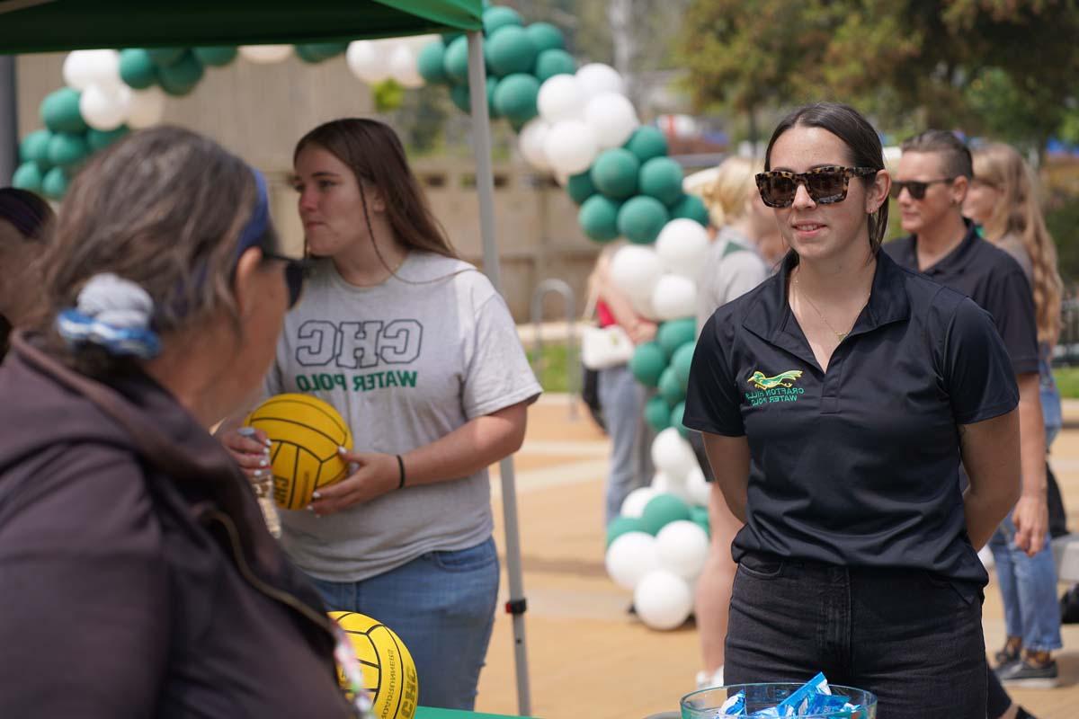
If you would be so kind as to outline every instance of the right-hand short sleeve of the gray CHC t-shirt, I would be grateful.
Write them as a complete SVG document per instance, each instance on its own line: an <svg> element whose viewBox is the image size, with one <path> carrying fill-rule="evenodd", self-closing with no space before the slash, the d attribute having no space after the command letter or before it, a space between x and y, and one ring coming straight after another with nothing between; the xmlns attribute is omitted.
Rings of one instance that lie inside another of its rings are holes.
<svg viewBox="0 0 1079 719"><path fill-rule="evenodd" d="M502 295L492 293L479 306L473 336L465 342L462 403L469 419L533 400L543 391Z"/></svg>

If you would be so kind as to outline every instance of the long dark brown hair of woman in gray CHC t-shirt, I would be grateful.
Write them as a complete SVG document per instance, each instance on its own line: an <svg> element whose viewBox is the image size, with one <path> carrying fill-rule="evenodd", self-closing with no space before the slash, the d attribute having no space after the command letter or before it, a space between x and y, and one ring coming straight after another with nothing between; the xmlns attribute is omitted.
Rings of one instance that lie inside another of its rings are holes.
<svg viewBox="0 0 1079 719"><path fill-rule="evenodd" d="M427 197L420 189L420 182L409 167L405 148L393 128L367 117L333 120L300 138L292 152L292 162L312 144L340 160L356 176L368 233L372 230L365 183L378 188L382 194L390 226L401 245L408 249L457 258L446 231L431 211ZM374 247L378 252L378 245ZM382 260L381 254L379 259ZM382 263L385 265L385 260ZM391 267L387 265L386 269Z"/></svg>

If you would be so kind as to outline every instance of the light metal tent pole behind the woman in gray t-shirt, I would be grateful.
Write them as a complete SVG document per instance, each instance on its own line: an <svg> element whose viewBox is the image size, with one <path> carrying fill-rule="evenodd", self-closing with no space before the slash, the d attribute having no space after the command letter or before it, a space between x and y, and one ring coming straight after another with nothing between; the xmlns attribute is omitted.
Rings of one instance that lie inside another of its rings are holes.
<svg viewBox="0 0 1079 719"><path fill-rule="evenodd" d="M494 289L502 291L498 248L494 239L494 178L491 171L491 119L487 108L487 74L483 63L483 33L468 33L468 89L472 95L473 150L476 154L476 192L479 194L479 229L483 238L483 272ZM521 543L517 518L517 486L514 458L498 464L502 475L502 512L506 534L506 575L509 600L506 611L514 620L514 653L517 661L517 713L532 714L529 693L529 658L524 641L524 580L521 575Z"/></svg>

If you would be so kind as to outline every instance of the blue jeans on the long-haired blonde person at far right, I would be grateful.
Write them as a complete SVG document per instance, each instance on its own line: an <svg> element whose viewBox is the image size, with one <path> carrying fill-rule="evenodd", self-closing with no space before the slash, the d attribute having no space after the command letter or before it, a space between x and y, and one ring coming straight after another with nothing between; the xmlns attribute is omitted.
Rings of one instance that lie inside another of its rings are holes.
<svg viewBox="0 0 1079 719"><path fill-rule="evenodd" d="M1015 525L1010 514L989 539L1008 636L1023 637L1023 648L1032 651L1051 651L1063 646L1056 565L1049 542L1047 536L1041 551L1027 556L1015 545Z"/></svg>

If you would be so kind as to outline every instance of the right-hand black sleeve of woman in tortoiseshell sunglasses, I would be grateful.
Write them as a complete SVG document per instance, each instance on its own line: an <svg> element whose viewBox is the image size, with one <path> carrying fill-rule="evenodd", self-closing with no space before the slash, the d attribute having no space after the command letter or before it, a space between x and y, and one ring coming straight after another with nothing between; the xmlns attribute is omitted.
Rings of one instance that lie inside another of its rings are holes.
<svg viewBox="0 0 1079 719"><path fill-rule="evenodd" d="M1008 350L993 319L972 300L956 305L943 345L944 384L952 413L972 425L1011 412L1019 387Z"/></svg>

